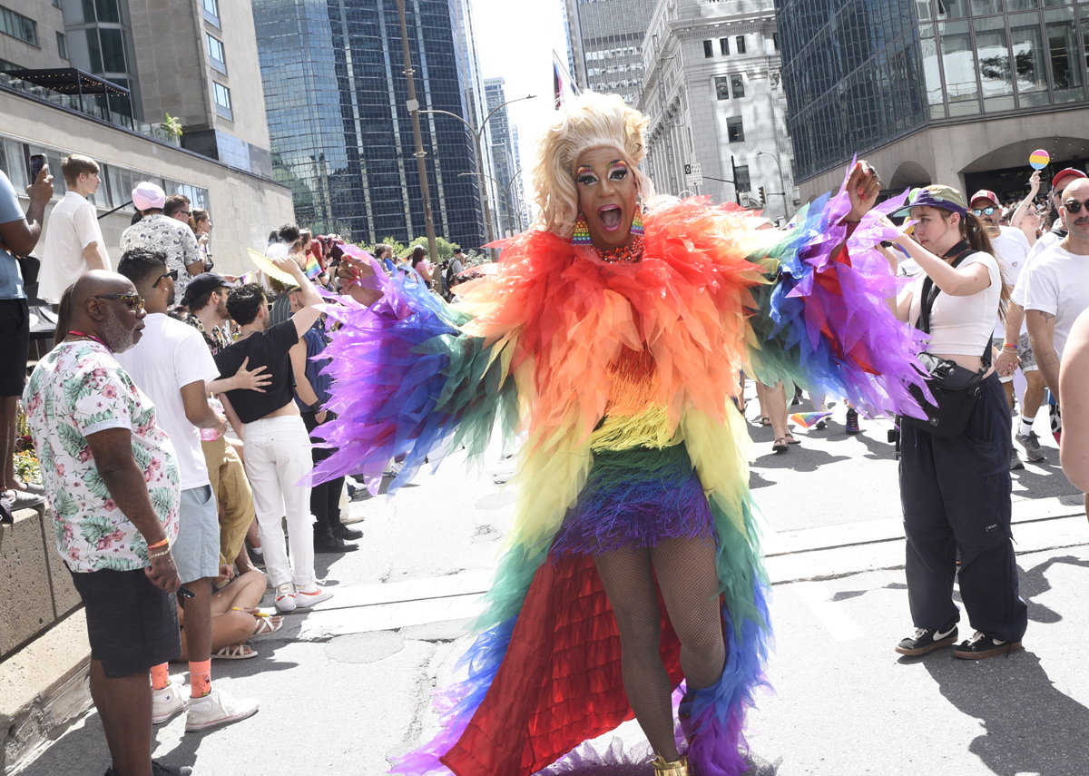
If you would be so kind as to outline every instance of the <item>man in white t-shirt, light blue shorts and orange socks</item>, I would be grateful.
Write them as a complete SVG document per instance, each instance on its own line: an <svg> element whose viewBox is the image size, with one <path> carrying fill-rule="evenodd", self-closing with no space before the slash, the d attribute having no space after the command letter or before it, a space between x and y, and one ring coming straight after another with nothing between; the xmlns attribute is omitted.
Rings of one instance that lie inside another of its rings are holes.
<svg viewBox="0 0 1089 776"><path fill-rule="evenodd" d="M211 582L220 575L219 511L197 428L227 431L224 419L208 403L207 386L219 377L219 369L200 332L167 315L174 303L176 270L167 266L164 253L129 251L118 271L133 281L147 311L144 336L135 348L118 355L119 363L155 402L159 425L178 456L180 528L171 551L182 584L195 596L182 603L191 687L185 729L207 730L257 713L257 701L234 700L211 686ZM164 689L154 688L155 701ZM156 722L166 722L185 705L178 693L167 694L171 703L154 704Z"/></svg>

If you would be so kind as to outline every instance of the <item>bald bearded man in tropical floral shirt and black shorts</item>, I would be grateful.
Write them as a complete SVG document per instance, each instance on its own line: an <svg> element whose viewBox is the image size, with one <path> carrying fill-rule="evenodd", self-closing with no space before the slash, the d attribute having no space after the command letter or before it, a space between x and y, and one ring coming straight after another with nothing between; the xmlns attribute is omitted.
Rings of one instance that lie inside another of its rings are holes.
<svg viewBox="0 0 1089 776"><path fill-rule="evenodd" d="M86 607L90 694L122 776L148 773L148 674L181 653L172 595L181 582L170 554L178 460L155 405L113 356L139 339L143 305L120 275L81 277L70 298L71 329L23 395L56 512L57 549Z"/></svg>

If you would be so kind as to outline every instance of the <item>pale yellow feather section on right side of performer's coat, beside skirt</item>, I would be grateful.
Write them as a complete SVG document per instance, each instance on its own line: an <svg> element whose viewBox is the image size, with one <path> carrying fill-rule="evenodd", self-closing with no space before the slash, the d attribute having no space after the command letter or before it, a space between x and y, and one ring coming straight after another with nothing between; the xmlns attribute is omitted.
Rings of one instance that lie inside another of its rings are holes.
<svg viewBox="0 0 1089 776"><path fill-rule="evenodd" d="M749 536L742 505L748 500L748 462L755 448L733 402L727 402L724 416L725 423L717 423L707 413L689 410L681 417L681 435L708 498L751 543L757 537Z"/></svg>

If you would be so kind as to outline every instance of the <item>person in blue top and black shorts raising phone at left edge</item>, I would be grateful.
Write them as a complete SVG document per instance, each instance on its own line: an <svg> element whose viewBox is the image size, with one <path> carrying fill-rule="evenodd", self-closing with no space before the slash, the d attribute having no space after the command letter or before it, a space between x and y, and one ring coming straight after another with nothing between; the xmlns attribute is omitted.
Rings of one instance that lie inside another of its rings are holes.
<svg viewBox="0 0 1089 776"><path fill-rule="evenodd" d="M15 189L0 172L0 521L42 502L41 486L15 478L14 458L15 405L26 381L30 347L30 308L19 257L38 244L46 203L53 196L48 167L41 167L33 180L26 187L30 206L24 215Z"/></svg>

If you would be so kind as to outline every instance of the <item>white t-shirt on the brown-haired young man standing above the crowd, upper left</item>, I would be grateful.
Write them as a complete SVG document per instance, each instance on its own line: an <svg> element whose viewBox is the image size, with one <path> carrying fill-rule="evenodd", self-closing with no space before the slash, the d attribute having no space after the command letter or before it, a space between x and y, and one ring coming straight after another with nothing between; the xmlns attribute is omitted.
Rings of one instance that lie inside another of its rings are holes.
<svg viewBox="0 0 1089 776"><path fill-rule="evenodd" d="M39 298L47 302L60 302L64 289L87 271L83 250L91 243L98 243L98 255L103 266L112 270L95 206L86 197L68 192L46 221L46 243L41 248L38 279Z"/></svg>

